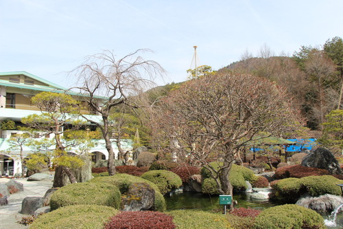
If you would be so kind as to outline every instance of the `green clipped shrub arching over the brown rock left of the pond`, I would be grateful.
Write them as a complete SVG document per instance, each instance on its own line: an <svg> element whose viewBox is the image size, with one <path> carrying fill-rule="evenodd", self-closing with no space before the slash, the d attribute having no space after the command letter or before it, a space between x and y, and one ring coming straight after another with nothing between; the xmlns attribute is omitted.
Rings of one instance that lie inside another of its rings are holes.
<svg viewBox="0 0 343 229"><path fill-rule="evenodd" d="M156 184L148 181L147 179L143 179L141 177L135 177L128 174L116 174L113 176L108 177L95 177L90 180L91 183L105 183L105 184L113 184L117 186L121 193L125 193L128 186L133 183L142 183L145 182L149 184L155 190L155 201L154 201L154 210L164 211L166 209L165 205L165 198L160 193L160 190L156 186Z"/></svg>

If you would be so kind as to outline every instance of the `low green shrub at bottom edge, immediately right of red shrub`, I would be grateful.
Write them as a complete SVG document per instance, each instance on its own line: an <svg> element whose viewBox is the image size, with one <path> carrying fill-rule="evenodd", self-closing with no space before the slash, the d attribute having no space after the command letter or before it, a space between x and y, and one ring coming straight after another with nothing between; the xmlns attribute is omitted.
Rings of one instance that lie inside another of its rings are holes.
<svg viewBox="0 0 343 229"><path fill-rule="evenodd" d="M167 214L174 217L173 221L176 225L176 228L179 229L231 228L230 223L222 214L203 212L200 210L172 210L167 212Z"/></svg>

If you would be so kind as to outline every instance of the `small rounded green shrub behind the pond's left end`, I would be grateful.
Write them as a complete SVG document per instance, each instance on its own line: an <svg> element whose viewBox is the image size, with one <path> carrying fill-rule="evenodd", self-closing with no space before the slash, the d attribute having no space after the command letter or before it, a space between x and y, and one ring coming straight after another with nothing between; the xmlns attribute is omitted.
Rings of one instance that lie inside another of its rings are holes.
<svg viewBox="0 0 343 229"><path fill-rule="evenodd" d="M171 171L152 170L143 173L141 177L156 184L163 195L182 185L181 178Z"/></svg>

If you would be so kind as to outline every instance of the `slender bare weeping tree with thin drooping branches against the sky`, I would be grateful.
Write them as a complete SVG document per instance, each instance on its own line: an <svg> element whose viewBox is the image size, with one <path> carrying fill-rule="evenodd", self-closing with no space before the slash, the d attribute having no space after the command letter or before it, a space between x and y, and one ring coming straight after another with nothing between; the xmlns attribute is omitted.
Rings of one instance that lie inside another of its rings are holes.
<svg viewBox="0 0 343 229"><path fill-rule="evenodd" d="M88 106L102 116L101 121L89 119L102 132L108 151L108 173L115 174L113 147L110 141L110 112L119 105L139 109L142 107L143 91L154 85L156 76L163 75L163 68L155 61L140 56L149 50L137 50L123 58L116 58L111 51L86 57L84 63L71 74L78 76L80 93ZM102 96L102 97L100 97Z"/></svg>

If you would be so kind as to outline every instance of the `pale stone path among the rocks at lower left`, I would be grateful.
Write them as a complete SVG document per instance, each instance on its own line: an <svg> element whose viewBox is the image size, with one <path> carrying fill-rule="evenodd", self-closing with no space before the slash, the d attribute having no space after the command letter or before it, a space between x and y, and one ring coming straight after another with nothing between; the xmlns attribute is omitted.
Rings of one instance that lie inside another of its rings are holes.
<svg viewBox="0 0 343 229"><path fill-rule="evenodd" d="M0 183L5 184L10 179L0 178ZM43 197L45 192L52 187L51 181L27 182L27 178L15 179L16 182L21 182L24 185L24 191L21 193L14 193L8 198L7 206L0 206L0 229L23 229L28 226L22 226L17 223L21 220L22 215L21 202L25 197Z"/></svg>

